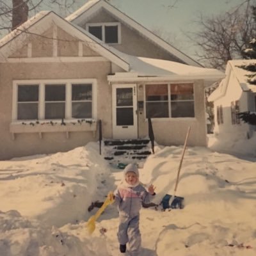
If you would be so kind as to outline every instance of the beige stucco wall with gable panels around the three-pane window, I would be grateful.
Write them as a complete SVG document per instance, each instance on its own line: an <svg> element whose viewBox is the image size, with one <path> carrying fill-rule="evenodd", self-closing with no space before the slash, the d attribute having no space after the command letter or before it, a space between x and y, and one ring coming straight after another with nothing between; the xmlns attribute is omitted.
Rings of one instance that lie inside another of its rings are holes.
<svg viewBox="0 0 256 256"><path fill-rule="evenodd" d="M40 63L40 57L54 57L52 33L52 28L47 29L44 35L31 35L30 38L26 38L24 45L19 45L20 49L12 54L12 58L24 58L23 63L20 63L20 59L16 62L13 61L15 59L12 59L11 63L0 64L0 159L67 151L83 146L88 141L97 140L99 134L99 131L95 134L92 131L79 131L69 132L67 136L66 132L55 131L42 132L42 134L38 132L15 133L15 136L12 136L10 124L12 123L13 80L96 79L97 119L102 119L104 138L112 136L111 86L107 81L107 75L111 73L111 62L99 60L76 62L79 41L58 28L58 38L61 40L57 44L57 55L60 57L70 56L72 62L55 60ZM31 44L31 57L37 58L32 63L26 61L28 42ZM99 56L86 45L86 42L83 44L82 52L83 56Z"/></svg>

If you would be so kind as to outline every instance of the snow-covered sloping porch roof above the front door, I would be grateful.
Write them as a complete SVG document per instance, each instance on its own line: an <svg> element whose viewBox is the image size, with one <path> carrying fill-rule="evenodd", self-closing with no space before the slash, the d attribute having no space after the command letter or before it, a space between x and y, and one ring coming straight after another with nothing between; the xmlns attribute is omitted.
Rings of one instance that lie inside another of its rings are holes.
<svg viewBox="0 0 256 256"><path fill-rule="evenodd" d="M133 76L127 77L127 74L116 73L115 76L108 76L109 81L134 81L134 79L137 81L143 79L154 81L159 80L160 77L164 80L204 79L217 81L225 76L223 72L214 68L194 67L174 61L136 57L117 51L116 54L129 63L130 72L133 73Z"/></svg>

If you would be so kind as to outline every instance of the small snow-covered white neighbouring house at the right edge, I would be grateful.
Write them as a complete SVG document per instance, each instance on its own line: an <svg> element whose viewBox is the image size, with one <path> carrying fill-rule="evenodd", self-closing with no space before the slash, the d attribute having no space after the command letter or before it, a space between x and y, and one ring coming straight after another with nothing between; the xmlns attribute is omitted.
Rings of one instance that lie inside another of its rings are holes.
<svg viewBox="0 0 256 256"><path fill-rule="evenodd" d="M245 124L236 115L239 112L256 111L256 85L248 83L250 74L241 65L256 63L256 60L230 60L226 77L208 100L214 102L214 134L229 136L230 140L250 138L255 125Z"/></svg>

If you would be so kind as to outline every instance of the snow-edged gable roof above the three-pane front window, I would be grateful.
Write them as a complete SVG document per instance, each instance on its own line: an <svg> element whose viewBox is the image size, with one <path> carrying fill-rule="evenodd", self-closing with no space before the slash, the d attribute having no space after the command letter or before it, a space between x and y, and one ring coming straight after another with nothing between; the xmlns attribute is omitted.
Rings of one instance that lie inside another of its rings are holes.
<svg viewBox="0 0 256 256"><path fill-rule="evenodd" d="M17 29L4 36L4 38L0 40L0 61L6 60L8 56L17 51L29 35L42 35L52 24L56 24L56 26L66 31L69 35L85 42L93 51L98 52L101 56L112 61L125 71L129 71L129 64L122 60L120 56L116 56L116 54L111 51L112 47L104 44L102 41L95 38L95 36L88 33L88 31L68 22L54 12L37 13Z"/></svg>

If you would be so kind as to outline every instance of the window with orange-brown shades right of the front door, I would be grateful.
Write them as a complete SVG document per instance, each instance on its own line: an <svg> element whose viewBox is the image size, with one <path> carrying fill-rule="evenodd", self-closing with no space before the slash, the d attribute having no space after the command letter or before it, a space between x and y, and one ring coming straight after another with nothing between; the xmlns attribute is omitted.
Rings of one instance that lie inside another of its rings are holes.
<svg viewBox="0 0 256 256"><path fill-rule="evenodd" d="M146 84L147 118L195 117L193 84Z"/></svg>

